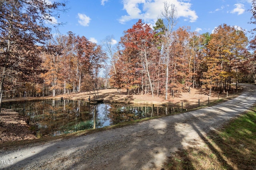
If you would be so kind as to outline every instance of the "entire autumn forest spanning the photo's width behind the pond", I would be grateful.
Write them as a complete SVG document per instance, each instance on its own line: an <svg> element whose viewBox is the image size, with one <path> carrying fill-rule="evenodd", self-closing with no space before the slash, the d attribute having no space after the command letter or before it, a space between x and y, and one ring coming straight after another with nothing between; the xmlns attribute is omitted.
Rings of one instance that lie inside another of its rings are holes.
<svg viewBox="0 0 256 170"><path fill-rule="evenodd" d="M203 34L176 27L174 4L164 3L154 26L138 20L118 45L112 44L112 35L101 45L71 31L52 35L45 21L64 11L64 3L0 0L0 6L0 106L3 98L102 88L162 95L166 100L203 88L210 96L212 90L221 93L231 84L237 88L238 83L256 80L256 37L225 23ZM255 24L255 0L251 13L248 22Z"/></svg>

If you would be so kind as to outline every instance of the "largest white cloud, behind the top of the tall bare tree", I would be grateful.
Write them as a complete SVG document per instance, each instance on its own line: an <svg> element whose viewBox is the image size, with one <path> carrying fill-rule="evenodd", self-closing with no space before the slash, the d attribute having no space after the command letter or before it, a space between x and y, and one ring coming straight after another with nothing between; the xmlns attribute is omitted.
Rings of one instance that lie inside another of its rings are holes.
<svg viewBox="0 0 256 170"><path fill-rule="evenodd" d="M146 22L155 23L161 10L164 8L166 0L123 0L124 10L127 15L119 19L120 23L125 23L133 19L143 19ZM191 5L188 0L168 0L170 4L174 4L178 11L178 17L189 19L190 22L197 20L196 12L191 10Z"/></svg>

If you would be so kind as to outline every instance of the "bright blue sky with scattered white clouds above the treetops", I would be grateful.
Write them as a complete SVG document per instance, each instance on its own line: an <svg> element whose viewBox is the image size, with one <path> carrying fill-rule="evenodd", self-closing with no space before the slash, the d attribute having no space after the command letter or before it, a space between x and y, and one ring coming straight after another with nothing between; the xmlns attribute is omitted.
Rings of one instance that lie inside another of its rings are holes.
<svg viewBox="0 0 256 170"><path fill-rule="evenodd" d="M113 43L118 43L124 31L132 28L139 19L154 26L161 18L164 2L174 4L178 11L178 24L174 29L189 26L190 31L202 34L212 33L215 27L224 23L246 31L256 27L248 23L252 16L249 11L252 0L68 0L68 10L52 19L56 23L65 23L58 26L61 34L72 31L98 45L106 36L114 35ZM52 31L57 32L55 28Z"/></svg>

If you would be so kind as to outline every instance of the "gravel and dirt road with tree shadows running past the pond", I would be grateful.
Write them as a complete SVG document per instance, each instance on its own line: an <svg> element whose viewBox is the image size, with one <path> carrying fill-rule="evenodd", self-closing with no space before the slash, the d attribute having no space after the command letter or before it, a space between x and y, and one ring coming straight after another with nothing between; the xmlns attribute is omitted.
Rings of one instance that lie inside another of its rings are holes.
<svg viewBox="0 0 256 170"><path fill-rule="evenodd" d="M204 146L204 134L256 103L256 86L216 106L68 140L0 150L2 169L160 170L171 152Z"/></svg>

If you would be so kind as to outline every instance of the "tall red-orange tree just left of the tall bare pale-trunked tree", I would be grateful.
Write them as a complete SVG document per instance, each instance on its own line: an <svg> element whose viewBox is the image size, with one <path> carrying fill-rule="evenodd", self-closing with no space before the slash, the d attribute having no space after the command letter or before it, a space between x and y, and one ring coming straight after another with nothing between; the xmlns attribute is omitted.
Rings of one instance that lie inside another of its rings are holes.
<svg viewBox="0 0 256 170"><path fill-rule="evenodd" d="M128 93L141 91L145 87L150 87L152 97L154 96L154 77L156 73L156 61L158 61L158 49L154 44L154 31L142 20L139 20L132 28L124 32L120 44L123 50L120 51L120 57L117 62L118 73L121 76L112 76L116 80L121 78L122 83ZM145 78L144 78L145 75ZM145 81L145 82L144 82ZM148 82L148 83L147 83ZM145 84L143 86L143 84Z"/></svg>

